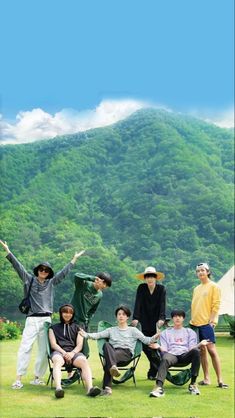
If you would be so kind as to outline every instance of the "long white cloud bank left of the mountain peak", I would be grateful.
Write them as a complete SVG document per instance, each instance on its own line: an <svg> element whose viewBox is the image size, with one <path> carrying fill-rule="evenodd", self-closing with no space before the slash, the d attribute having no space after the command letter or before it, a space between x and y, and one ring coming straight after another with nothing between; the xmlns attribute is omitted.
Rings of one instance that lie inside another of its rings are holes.
<svg viewBox="0 0 235 418"><path fill-rule="evenodd" d="M42 109L21 111L13 122L1 118L1 144L20 144L72 134L107 126L144 107L147 103L126 100L105 100L94 110L77 112L63 109L51 115Z"/></svg>

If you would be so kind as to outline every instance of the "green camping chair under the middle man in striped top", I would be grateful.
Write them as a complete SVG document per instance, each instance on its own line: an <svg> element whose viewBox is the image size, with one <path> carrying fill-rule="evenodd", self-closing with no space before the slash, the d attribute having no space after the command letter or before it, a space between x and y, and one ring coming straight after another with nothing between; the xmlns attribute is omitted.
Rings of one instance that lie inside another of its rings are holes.
<svg viewBox="0 0 235 418"><path fill-rule="evenodd" d="M98 332L104 331L107 328L112 327L112 325L109 322L106 321L100 321L98 323ZM99 351L99 357L102 364L102 367L104 369L105 366L105 358L103 353L103 345L108 340L106 338L100 338L97 340L98 345L98 351ZM123 375L119 379L112 378L113 383L120 384L126 382L128 379L133 379L133 382L136 386L136 379L135 379L135 369L139 362L140 356L142 351L142 343L141 341L137 340L135 351L133 357L128 362L120 362L117 364L119 371L125 371ZM129 366L129 367L128 367Z"/></svg>

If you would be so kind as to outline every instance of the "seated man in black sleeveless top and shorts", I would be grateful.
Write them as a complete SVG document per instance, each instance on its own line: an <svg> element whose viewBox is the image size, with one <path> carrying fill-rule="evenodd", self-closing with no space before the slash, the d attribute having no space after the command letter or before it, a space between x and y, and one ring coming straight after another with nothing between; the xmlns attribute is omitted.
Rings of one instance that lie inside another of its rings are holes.
<svg viewBox="0 0 235 418"><path fill-rule="evenodd" d="M52 349L53 378L55 381L56 398L64 397L61 387L61 367L65 364L69 370L72 366L82 370L87 395L97 396L101 390L92 386L92 374L87 358L81 353L83 338L79 335L79 326L73 322L75 311L72 305L65 304L59 309L60 323L49 329L49 341Z"/></svg>

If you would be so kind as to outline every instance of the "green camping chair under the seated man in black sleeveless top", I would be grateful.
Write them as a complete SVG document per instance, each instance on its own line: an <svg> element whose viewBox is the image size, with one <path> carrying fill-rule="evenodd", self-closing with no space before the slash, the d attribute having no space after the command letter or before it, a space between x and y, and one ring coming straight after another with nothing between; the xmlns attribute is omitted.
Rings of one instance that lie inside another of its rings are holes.
<svg viewBox="0 0 235 418"><path fill-rule="evenodd" d="M44 329L45 329L45 333L46 333L46 336L47 336L47 339L46 339L46 342L47 342L47 359L48 359L48 367L49 367L49 377L47 379L47 385L51 381L51 388L52 388L54 379L53 379L53 363L52 363L52 360L51 360L51 346L50 346L49 335L48 335L50 326L51 326L50 322L45 322ZM88 345L88 342L87 342L86 338L83 339L82 353L86 356L86 358L89 357L89 345ZM68 372L68 366L64 364L61 367L61 371L62 372ZM75 366L70 366L69 371L73 371L75 373L76 380L78 381L78 383L80 383L80 381L82 380L81 369L79 369ZM74 380L74 381L76 381L76 380ZM68 381L68 379L62 379L62 386L66 387L66 386L69 386L71 383L74 383L74 382L67 383L67 381ZM82 383L83 383L83 380L82 380Z"/></svg>

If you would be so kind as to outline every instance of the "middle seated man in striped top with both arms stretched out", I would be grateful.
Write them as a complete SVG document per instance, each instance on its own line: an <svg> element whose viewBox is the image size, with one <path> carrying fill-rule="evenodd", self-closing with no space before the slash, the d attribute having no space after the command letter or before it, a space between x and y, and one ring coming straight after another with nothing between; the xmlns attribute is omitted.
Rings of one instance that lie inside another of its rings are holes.
<svg viewBox="0 0 235 418"><path fill-rule="evenodd" d="M155 342L159 336L159 334L155 334L153 337L146 337L137 328L129 327L127 321L131 316L131 311L126 306L119 306L115 311L115 316L118 322L116 327L110 327L95 333L80 331L80 334L85 338L92 338L93 340L109 339L103 347L105 368L101 395L112 394L112 377L120 376L117 365L119 362L129 362L131 360L137 340L144 344L150 344Z"/></svg>

